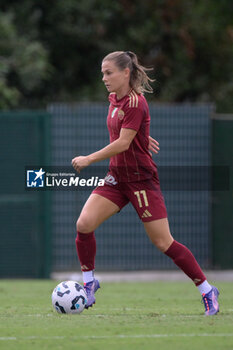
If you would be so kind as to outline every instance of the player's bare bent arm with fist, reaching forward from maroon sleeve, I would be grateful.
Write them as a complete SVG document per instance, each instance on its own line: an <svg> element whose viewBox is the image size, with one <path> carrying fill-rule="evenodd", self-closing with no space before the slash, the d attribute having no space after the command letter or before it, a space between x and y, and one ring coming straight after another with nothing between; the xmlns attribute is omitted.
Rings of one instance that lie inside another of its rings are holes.
<svg viewBox="0 0 233 350"><path fill-rule="evenodd" d="M91 153L88 156L79 156L72 159L72 165L80 172L83 168L91 165L92 163L100 162L122 153L129 149L131 142L136 136L137 131L133 129L121 128L119 138L101 150Z"/></svg>

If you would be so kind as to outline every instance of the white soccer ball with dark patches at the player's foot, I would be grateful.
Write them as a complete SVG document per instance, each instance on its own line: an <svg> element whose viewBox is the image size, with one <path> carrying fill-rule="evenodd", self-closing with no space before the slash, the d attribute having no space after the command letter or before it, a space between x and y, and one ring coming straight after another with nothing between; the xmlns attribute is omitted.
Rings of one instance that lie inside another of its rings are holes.
<svg viewBox="0 0 233 350"><path fill-rule="evenodd" d="M80 314L86 303L86 292L75 281L59 283L52 293L53 307L60 314Z"/></svg>

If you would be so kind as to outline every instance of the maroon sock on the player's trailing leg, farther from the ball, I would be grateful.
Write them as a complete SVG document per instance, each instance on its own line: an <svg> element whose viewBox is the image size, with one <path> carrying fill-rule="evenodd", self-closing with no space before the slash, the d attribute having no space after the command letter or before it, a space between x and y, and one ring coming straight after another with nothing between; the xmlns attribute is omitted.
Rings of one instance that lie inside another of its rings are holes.
<svg viewBox="0 0 233 350"><path fill-rule="evenodd" d="M199 286L199 284L206 280L206 277L193 254L183 244L173 241L165 254L169 256L174 263L193 280L196 286Z"/></svg>

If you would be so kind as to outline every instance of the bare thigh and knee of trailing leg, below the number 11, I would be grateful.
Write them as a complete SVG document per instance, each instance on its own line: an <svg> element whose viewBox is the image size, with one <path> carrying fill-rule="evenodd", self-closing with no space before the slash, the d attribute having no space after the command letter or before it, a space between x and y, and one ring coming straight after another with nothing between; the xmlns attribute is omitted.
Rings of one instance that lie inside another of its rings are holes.
<svg viewBox="0 0 233 350"><path fill-rule="evenodd" d="M173 242L167 218L144 222L144 227L151 242L162 252L166 252Z"/></svg>

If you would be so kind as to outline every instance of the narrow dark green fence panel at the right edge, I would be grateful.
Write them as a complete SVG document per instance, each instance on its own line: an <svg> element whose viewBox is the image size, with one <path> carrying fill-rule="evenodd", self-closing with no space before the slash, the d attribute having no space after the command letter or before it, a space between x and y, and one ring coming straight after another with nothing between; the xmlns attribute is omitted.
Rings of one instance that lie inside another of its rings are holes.
<svg viewBox="0 0 233 350"><path fill-rule="evenodd" d="M233 268L233 115L215 114L212 120L212 162L228 170L228 188L212 193L213 266ZM226 184L222 173L216 176Z"/></svg>

